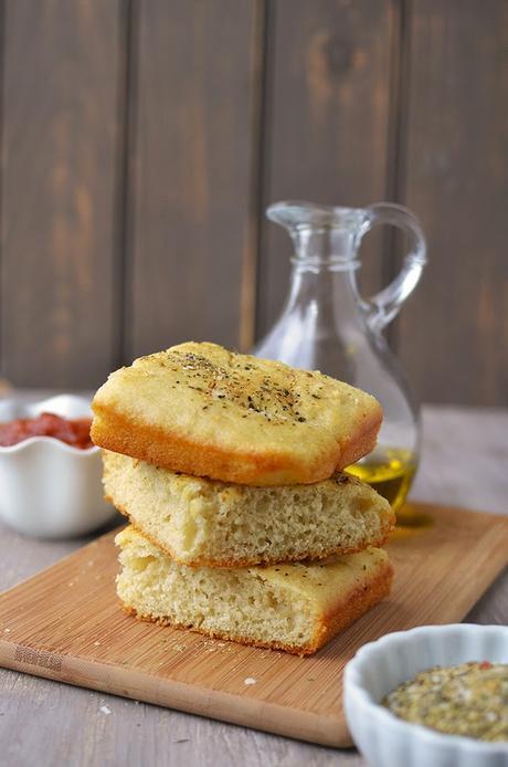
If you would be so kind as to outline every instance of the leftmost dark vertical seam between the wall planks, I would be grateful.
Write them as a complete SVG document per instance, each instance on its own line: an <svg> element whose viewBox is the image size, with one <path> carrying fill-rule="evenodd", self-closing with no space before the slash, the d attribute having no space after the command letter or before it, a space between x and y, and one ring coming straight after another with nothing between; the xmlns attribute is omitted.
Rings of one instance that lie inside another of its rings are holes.
<svg viewBox="0 0 508 767"><path fill-rule="evenodd" d="M127 359L129 346L129 308L131 306L131 237L130 189L133 168L130 162L134 146L135 77L137 61L136 27L138 14L136 0L124 0L124 61L120 73L120 96L118 99L119 133L118 150L118 193L117 193L117 254L116 254L116 349L114 367L120 367Z"/></svg>

